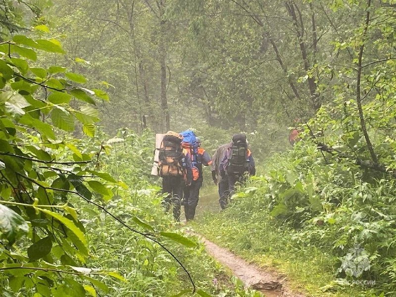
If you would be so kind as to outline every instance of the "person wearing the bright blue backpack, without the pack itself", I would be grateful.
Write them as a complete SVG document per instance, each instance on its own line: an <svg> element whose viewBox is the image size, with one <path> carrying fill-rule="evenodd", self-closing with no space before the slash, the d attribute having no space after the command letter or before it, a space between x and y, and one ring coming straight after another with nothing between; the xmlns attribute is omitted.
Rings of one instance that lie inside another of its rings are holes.
<svg viewBox="0 0 396 297"><path fill-rule="evenodd" d="M197 137L196 143L198 145L197 148L197 164L196 168L193 169L193 181L191 186L184 188L184 212L186 215L186 220L191 221L194 220L195 211L198 205L199 200L199 189L202 187L203 175L202 175L202 165L209 166L212 164L212 159L209 154L200 147L200 140ZM187 148L188 150L189 148ZM191 155L191 148L189 151Z"/></svg>

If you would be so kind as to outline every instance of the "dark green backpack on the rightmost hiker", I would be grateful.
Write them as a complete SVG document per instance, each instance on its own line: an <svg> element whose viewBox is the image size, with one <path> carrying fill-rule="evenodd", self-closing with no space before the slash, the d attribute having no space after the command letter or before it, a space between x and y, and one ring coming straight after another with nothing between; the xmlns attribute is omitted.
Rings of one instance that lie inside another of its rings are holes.
<svg viewBox="0 0 396 297"><path fill-rule="evenodd" d="M228 152L228 175L242 175L248 171L248 155L245 134L235 134Z"/></svg>

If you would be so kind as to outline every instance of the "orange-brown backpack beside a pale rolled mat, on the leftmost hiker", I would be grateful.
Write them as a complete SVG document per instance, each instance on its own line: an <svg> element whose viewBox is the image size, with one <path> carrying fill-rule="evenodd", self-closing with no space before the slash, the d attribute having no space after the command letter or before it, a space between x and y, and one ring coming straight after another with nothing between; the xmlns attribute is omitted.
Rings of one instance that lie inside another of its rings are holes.
<svg viewBox="0 0 396 297"><path fill-rule="evenodd" d="M183 136L179 133L168 131L162 140L158 154L159 176L183 176Z"/></svg>

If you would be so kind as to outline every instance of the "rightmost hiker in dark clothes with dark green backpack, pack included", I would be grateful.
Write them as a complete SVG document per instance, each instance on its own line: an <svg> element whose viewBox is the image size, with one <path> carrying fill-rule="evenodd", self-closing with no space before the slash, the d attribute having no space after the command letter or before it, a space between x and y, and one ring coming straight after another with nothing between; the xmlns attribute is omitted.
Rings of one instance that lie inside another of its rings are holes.
<svg viewBox="0 0 396 297"><path fill-rule="evenodd" d="M234 134L220 163L221 177L228 178L228 196L234 191L236 182L244 181L246 174L256 174L254 159L251 151L247 148L246 135Z"/></svg>

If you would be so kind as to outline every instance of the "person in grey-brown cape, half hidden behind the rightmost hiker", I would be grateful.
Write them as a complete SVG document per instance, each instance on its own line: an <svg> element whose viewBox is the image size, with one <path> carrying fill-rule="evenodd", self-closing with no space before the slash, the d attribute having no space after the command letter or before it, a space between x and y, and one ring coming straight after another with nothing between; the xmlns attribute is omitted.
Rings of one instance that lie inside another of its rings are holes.
<svg viewBox="0 0 396 297"><path fill-rule="evenodd" d="M219 187L219 203L221 209L225 209L228 203L228 177L221 177L220 163L229 147L230 144L221 145L216 149L212 157L212 179L214 184Z"/></svg>

